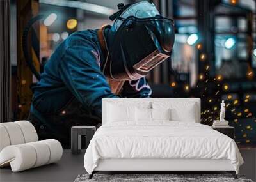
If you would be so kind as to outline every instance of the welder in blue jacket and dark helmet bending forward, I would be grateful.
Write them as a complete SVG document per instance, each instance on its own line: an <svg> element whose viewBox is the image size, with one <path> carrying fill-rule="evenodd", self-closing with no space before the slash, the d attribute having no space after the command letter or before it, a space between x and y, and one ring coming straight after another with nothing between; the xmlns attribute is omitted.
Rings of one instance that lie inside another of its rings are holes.
<svg viewBox="0 0 256 182"><path fill-rule="evenodd" d="M60 43L33 87L31 122L40 139L70 146L70 128L101 123L102 98L147 98L145 76L172 53L173 21L154 4L118 4L113 26L77 31Z"/></svg>

